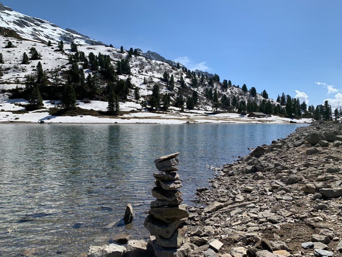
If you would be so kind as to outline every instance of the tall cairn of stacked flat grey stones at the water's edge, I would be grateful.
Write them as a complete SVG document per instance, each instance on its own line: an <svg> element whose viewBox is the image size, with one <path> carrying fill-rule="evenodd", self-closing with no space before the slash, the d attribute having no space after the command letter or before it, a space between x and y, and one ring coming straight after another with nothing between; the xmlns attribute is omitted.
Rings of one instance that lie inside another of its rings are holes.
<svg viewBox="0 0 342 257"><path fill-rule="evenodd" d="M177 190L183 186L175 167L179 163L178 155L176 152L154 161L159 172L153 174L156 186L152 196L157 199L151 203L144 226L152 236L157 257L175 256L181 250L187 229L187 205L181 204L182 193Z"/></svg>

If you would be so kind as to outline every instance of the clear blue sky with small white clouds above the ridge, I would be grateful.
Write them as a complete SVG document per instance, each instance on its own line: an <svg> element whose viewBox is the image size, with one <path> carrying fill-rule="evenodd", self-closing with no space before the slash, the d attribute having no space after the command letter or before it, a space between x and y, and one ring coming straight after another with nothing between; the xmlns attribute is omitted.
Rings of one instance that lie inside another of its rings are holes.
<svg viewBox="0 0 342 257"><path fill-rule="evenodd" d="M342 2L2 0L125 49L151 50L235 85L342 105ZM297 90L297 91L296 91Z"/></svg>

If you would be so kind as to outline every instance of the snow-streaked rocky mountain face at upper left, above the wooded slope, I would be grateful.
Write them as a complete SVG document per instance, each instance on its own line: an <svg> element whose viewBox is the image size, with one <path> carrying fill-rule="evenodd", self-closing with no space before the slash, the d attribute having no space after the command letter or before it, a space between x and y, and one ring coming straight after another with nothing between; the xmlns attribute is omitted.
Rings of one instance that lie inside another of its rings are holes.
<svg viewBox="0 0 342 257"><path fill-rule="evenodd" d="M23 38L41 41L57 42L60 40L82 45L104 45L102 42L90 39L76 31L64 30L57 25L39 18L27 16L13 11L0 3L0 27L8 28Z"/></svg>

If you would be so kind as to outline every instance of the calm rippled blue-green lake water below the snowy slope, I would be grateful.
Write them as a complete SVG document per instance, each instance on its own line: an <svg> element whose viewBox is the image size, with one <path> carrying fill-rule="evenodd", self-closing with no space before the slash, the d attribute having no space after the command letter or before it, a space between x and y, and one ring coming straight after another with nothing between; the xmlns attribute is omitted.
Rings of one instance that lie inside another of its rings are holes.
<svg viewBox="0 0 342 257"><path fill-rule="evenodd" d="M184 203L247 147L298 126L271 124L0 124L0 255L75 256L119 233L147 238L154 159L181 152ZM126 204L136 218L124 225Z"/></svg>

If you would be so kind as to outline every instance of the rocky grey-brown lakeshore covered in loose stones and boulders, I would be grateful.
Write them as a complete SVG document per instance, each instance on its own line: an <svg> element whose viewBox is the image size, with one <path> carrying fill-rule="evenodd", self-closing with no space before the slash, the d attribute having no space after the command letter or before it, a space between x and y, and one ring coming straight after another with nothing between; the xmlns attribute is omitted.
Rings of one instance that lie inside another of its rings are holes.
<svg viewBox="0 0 342 257"><path fill-rule="evenodd" d="M342 124L299 127L212 169L218 174L209 180L210 189L197 188L198 204L188 209L182 246L177 241L177 250L158 256L341 255ZM152 235L149 242L111 244L116 252L88 256L152 257L153 242Z"/></svg>

